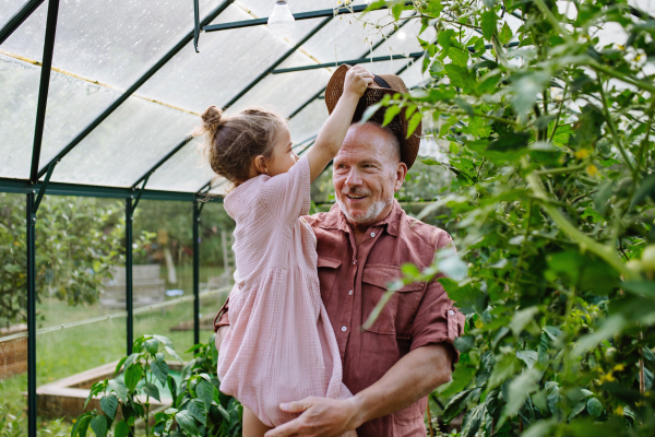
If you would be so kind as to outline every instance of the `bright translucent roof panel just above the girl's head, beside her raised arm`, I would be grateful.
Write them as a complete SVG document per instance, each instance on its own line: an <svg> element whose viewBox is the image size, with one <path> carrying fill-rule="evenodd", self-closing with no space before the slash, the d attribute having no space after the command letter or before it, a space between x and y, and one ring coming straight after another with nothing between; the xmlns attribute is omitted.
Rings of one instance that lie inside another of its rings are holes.
<svg viewBox="0 0 655 437"><path fill-rule="evenodd" d="M296 52L289 58L298 61L298 58L306 57ZM324 87L330 76L325 69L269 75L231 106L228 113L257 105L273 108L281 115L288 116Z"/></svg>

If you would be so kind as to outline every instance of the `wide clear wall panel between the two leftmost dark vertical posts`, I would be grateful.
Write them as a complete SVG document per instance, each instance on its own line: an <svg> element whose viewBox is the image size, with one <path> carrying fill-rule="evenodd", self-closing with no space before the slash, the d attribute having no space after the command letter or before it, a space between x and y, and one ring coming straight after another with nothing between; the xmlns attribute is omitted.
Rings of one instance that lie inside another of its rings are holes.
<svg viewBox="0 0 655 437"><path fill-rule="evenodd" d="M58 418L78 418L86 390L110 379L126 356L123 238L120 200L46 196L40 203L36 374L41 430L52 430Z"/></svg>

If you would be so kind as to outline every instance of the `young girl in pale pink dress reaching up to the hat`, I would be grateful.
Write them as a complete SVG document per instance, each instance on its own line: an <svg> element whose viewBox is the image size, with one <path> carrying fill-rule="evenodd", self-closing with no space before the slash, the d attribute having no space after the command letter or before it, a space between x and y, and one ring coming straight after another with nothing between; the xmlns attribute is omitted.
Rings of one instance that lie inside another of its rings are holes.
<svg viewBox="0 0 655 437"><path fill-rule="evenodd" d="M235 186L224 204L237 223L236 284L230 327L217 346L221 391L243 404L243 436L295 418L282 402L352 395L321 300L315 236L300 216L309 212L311 181L338 152L372 80L362 67L348 71L334 111L301 158L286 121L271 111L228 117L212 106L202 115L212 169Z"/></svg>

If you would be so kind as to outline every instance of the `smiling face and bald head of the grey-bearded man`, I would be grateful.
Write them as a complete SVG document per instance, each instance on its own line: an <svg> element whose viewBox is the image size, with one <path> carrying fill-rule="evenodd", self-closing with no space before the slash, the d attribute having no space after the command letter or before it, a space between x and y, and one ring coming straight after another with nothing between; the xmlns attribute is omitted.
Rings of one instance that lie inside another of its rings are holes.
<svg viewBox="0 0 655 437"><path fill-rule="evenodd" d="M386 135L377 126L353 125L334 158L334 193L353 225L384 218L405 180L407 166L397 162Z"/></svg>

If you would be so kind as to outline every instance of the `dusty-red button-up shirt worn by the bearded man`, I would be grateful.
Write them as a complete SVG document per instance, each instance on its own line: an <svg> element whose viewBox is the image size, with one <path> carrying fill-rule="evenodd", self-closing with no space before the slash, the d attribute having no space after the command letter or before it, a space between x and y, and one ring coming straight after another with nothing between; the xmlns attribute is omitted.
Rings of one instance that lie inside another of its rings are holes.
<svg viewBox="0 0 655 437"><path fill-rule="evenodd" d="M463 333L464 316L437 281L400 290L368 330L368 319L388 285L402 275L407 262L430 265L437 250L452 244L444 231L409 217L394 201L386 218L370 226L359 247L341 209L305 217L317 236L321 298L336 335L343 381L355 394L376 381L404 355L429 344L445 344L456 363L454 339ZM216 329L229 324L228 303ZM407 388L410 390L412 388ZM359 437L425 437L427 398L367 422Z"/></svg>

